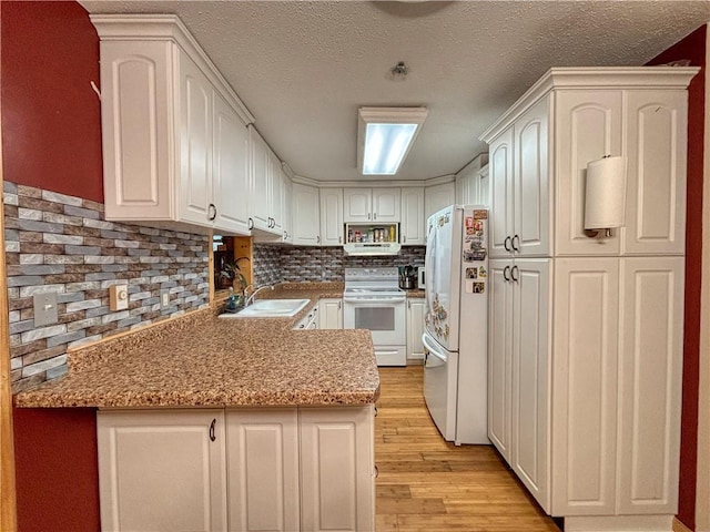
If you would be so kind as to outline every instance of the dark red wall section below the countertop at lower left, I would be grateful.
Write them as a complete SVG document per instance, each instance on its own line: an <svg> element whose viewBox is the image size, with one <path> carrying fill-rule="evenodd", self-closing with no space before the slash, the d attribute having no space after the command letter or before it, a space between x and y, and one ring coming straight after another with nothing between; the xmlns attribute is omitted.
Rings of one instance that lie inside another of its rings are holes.
<svg viewBox="0 0 710 532"><path fill-rule="evenodd" d="M19 532L101 530L97 413L14 409Z"/></svg>

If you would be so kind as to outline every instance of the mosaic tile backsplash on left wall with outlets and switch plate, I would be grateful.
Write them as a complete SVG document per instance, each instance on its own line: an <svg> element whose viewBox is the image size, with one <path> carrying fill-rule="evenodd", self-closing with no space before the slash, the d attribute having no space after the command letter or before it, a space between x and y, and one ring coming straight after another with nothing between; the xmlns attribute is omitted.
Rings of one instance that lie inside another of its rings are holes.
<svg viewBox="0 0 710 532"><path fill-rule="evenodd" d="M95 202L3 188L13 391L63 375L69 347L209 305L206 236L105 222ZM128 310L109 308L116 284L129 285ZM34 327L32 296L47 291L58 294L59 321Z"/></svg>

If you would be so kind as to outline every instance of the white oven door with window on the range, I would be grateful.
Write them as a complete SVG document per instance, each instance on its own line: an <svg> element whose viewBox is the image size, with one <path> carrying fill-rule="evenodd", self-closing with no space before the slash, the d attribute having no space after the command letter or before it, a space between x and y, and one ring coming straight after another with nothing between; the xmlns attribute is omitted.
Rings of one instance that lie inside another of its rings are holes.
<svg viewBox="0 0 710 532"><path fill-rule="evenodd" d="M375 346L407 342L405 299L402 297L343 297L343 328L368 329Z"/></svg>

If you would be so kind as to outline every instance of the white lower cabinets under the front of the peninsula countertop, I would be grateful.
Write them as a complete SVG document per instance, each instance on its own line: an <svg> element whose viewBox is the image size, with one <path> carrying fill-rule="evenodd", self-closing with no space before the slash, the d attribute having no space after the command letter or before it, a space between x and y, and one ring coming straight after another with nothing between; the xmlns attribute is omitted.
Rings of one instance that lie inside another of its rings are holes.
<svg viewBox="0 0 710 532"><path fill-rule="evenodd" d="M373 405L97 419L104 532L375 530Z"/></svg>

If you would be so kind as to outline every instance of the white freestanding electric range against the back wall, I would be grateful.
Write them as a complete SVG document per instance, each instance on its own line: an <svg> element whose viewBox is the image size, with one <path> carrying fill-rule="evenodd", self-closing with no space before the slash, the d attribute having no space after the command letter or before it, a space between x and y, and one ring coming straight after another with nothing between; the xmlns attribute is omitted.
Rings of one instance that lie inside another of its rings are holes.
<svg viewBox="0 0 710 532"><path fill-rule="evenodd" d="M405 301L397 268L345 268L343 328L372 332L377 366L407 365Z"/></svg>

